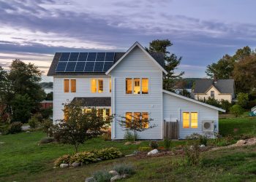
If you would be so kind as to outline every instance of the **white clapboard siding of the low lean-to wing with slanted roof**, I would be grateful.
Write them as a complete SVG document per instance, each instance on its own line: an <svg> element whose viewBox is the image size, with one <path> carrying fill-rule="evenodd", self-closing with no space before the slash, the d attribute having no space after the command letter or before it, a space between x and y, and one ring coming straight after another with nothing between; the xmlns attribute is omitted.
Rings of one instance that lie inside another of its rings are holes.
<svg viewBox="0 0 256 182"><path fill-rule="evenodd" d="M186 138L187 135L192 133L203 134L202 121L212 120L217 125L217 131L219 130L219 113L214 108L208 108L198 103L194 103L183 98L178 98L173 95L163 94L163 111L164 119L178 119L179 126L179 138ZM182 112L183 111L197 111L198 112L198 128L183 128L182 127Z"/></svg>

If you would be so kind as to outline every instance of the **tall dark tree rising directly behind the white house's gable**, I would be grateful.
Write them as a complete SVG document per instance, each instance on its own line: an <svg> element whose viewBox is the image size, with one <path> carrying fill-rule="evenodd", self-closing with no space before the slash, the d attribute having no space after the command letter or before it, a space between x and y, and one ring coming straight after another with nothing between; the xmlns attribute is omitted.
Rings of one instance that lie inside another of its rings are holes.
<svg viewBox="0 0 256 182"><path fill-rule="evenodd" d="M175 54L170 53L167 48L173 44L168 39L154 40L149 43L149 47L145 48L148 52L159 52L164 55L165 59L165 70L167 74L163 75L163 88L165 90L173 90L175 79L180 79L184 74L182 71L179 74L175 74L177 66L181 63L181 57L177 57Z"/></svg>

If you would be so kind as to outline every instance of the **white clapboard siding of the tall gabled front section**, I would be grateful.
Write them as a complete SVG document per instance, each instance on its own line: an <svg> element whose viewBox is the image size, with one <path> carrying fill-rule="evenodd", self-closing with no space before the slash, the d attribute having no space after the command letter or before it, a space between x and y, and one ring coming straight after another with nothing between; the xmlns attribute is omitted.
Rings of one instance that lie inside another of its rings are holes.
<svg viewBox="0 0 256 182"><path fill-rule="evenodd" d="M112 82L115 82L115 92L111 97L112 111L116 114L112 124L112 138L124 138L124 128L118 124L119 116L124 116L127 111L146 111L149 117L154 119L151 124L156 124L157 127L139 132L139 138L162 139L162 71L159 67L139 47L135 47L110 74ZM148 78L149 94L127 95L126 78Z"/></svg>

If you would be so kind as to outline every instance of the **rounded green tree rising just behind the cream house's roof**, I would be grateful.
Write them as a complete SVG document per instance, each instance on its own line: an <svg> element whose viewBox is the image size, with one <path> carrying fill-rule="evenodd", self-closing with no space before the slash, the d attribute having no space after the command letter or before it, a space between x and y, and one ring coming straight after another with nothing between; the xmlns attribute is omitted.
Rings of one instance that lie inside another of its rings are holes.
<svg viewBox="0 0 256 182"><path fill-rule="evenodd" d="M234 60L230 55L224 55L217 63L212 63L206 68L206 74L211 79L230 79L234 69Z"/></svg>

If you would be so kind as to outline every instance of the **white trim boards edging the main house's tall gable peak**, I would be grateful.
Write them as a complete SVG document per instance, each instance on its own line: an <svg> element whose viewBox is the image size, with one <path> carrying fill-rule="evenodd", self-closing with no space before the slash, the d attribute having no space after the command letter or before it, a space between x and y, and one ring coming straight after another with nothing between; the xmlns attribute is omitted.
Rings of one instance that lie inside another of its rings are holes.
<svg viewBox="0 0 256 182"><path fill-rule="evenodd" d="M132 47L130 47L129 50L127 50L127 52L125 52L125 54L111 68L109 68L105 74L108 75L110 71L112 71L113 68L115 68L118 65L118 63L120 63L121 60L123 60L129 54L129 52L131 52L136 46L138 46L140 50L142 50L148 56L148 58L150 58L159 67L160 70L167 74L167 71L164 68L162 68L162 66L160 66L159 63L157 63L157 60L155 60L148 52L146 52L146 50L140 45L140 43L138 43L138 41L136 41L135 44L133 44Z"/></svg>

